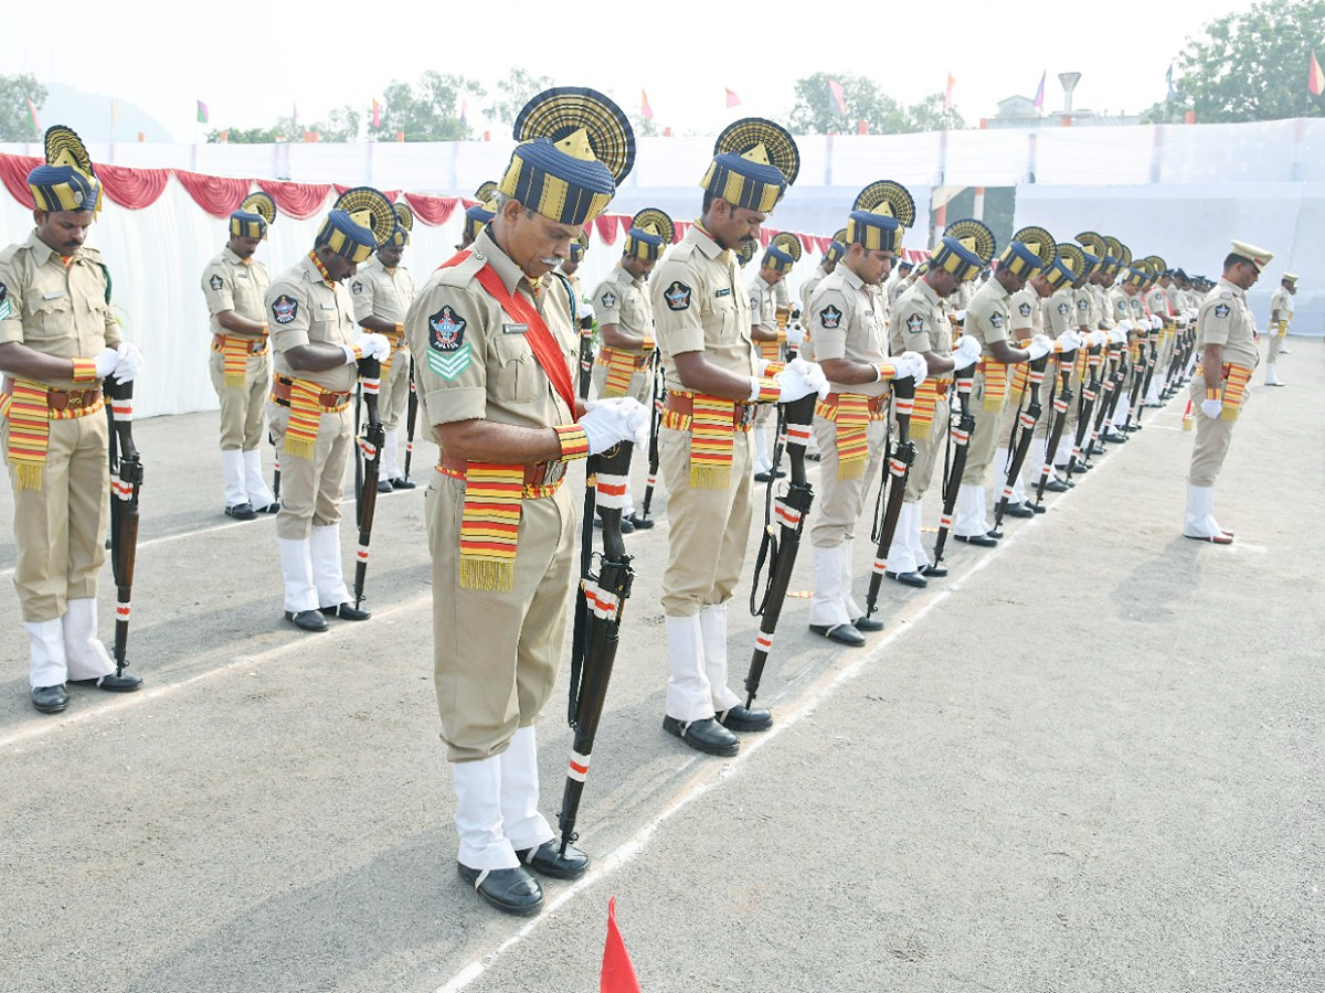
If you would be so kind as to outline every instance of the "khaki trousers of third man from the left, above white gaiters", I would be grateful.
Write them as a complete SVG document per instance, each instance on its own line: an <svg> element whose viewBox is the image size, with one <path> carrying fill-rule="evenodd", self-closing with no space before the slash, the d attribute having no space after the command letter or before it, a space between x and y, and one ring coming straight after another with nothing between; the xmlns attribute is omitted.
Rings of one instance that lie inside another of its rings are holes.
<svg viewBox="0 0 1325 993"><path fill-rule="evenodd" d="M281 459L281 511L276 515L276 536L302 542L315 527L341 523L344 469L354 450L354 421L348 408L323 413L313 458L307 459L285 450L290 408L269 402L266 413L276 454Z"/></svg>

